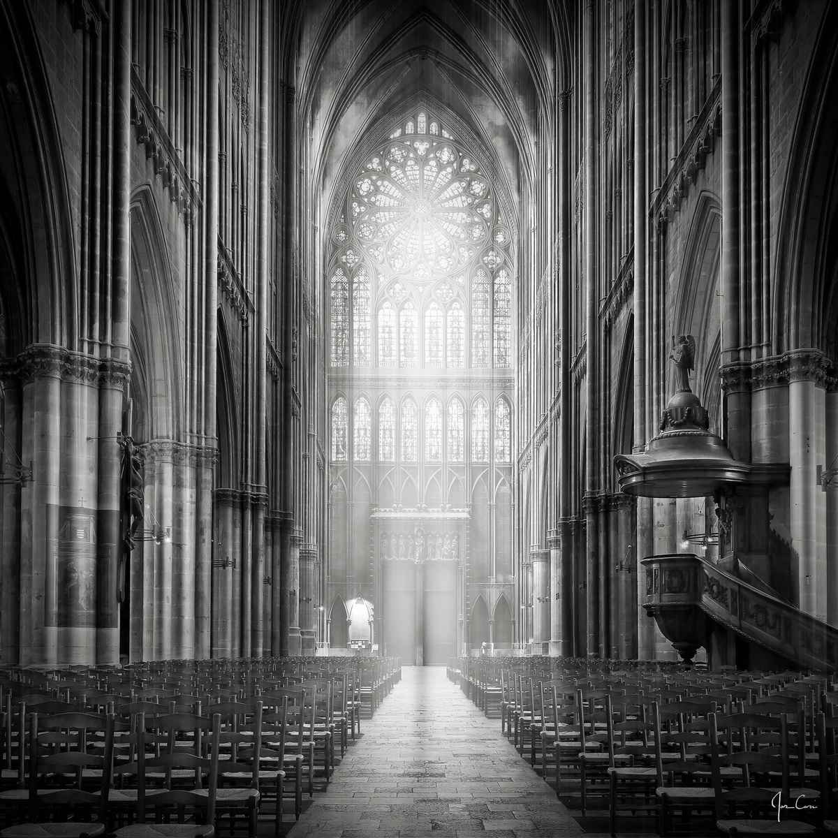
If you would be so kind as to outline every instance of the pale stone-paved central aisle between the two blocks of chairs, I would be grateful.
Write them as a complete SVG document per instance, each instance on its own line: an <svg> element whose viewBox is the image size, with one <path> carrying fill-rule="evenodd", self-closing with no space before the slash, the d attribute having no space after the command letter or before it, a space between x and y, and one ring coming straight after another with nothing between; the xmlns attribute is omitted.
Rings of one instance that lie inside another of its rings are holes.
<svg viewBox="0 0 838 838"><path fill-rule="evenodd" d="M402 670L291 838L583 835L442 666Z"/></svg>

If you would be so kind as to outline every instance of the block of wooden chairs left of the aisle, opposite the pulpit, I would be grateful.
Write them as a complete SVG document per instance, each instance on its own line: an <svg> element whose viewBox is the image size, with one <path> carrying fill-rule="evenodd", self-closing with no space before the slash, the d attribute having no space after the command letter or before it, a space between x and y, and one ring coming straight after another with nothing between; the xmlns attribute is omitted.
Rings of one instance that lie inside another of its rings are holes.
<svg viewBox="0 0 838 838"><path fill-rule="evenodd" d="M271 806L278 835L286 785L298 818L400 677L397 659L0 670L0 835L256 835Z"/></svg>

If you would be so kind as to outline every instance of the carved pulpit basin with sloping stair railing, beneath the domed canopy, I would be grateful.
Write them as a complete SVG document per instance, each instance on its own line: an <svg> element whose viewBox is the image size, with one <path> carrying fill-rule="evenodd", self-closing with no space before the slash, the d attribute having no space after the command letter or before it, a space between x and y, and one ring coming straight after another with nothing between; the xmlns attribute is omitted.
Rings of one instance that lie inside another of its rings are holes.
<svg viewBox="0 0 838 838"><path fill-rule="evenodd" d="M644 608L685 660L706 645L707 618L791 661L838 669L838 629L690 553L649 556Z"/></svg>

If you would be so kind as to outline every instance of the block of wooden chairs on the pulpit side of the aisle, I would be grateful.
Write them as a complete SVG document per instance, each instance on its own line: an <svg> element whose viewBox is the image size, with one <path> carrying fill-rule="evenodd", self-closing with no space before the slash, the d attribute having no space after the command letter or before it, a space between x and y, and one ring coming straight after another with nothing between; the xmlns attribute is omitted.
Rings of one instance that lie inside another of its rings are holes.
<svg viewBox="0 0 838 838"><path fill-rule="evenodd" d="M661 835L677 813L728 835L833 829L829 676L539 664L455 660L448 672L582 816L592 798L607 800L613 835L637 812L655 815ZM804 808L776 810L795 801Z"/></svg>

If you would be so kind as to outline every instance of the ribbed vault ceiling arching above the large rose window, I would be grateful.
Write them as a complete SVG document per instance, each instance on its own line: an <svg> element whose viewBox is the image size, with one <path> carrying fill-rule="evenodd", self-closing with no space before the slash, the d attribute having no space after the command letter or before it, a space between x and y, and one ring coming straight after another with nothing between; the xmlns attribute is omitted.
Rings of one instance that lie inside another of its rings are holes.
<svg viewBox="0 0 838 838"><path fill-rule="evenodd" d="M349 157L422 102L461 129L517 207L565 85L558 0L308 0L297 67L313 185L324 205Z"/></svg>

